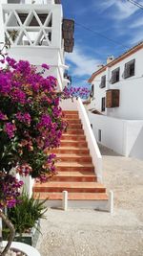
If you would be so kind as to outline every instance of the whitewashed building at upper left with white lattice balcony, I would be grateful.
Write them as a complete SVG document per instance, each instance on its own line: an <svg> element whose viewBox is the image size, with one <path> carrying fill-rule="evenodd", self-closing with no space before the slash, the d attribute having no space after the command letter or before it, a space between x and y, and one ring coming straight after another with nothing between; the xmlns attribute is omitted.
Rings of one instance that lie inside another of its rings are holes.
<svg viewBox="0 0 143 256"><path fill-rule="evenodd" d="M50 74L57 78L62 90L68 82L64 77L68 69L65 52L72 53L74 22L63 19L60 0L2 0L1 3L1 31L10 43L10 57L27 59L36 66L49 64Z"/></svg>

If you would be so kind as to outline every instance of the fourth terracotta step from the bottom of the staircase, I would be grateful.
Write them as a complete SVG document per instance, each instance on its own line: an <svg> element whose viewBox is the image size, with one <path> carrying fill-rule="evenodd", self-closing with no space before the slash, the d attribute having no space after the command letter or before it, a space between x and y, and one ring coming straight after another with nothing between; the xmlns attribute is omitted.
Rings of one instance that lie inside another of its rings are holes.
<svg viewBox="0 0 143 256"><path fill-rule="evenodd" d="M55 164L57 172L93 172L94 168L91 163L76 163L76 162L57 162Z"/></svg>

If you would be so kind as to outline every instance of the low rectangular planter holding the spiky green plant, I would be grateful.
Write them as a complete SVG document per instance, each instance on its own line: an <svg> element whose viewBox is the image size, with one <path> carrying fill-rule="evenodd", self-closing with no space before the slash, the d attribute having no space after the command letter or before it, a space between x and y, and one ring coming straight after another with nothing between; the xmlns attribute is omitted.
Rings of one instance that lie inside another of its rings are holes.
<svg viewBox="0 0 143 256"><path fill-rule="evenodd" d="M40 234L39 229L40 229L40 221L36 223L35 227L31 228L30 233L22 233L22 236L20 236L19 234L16 234L13 241L29 244L35 247Z"/></svg>

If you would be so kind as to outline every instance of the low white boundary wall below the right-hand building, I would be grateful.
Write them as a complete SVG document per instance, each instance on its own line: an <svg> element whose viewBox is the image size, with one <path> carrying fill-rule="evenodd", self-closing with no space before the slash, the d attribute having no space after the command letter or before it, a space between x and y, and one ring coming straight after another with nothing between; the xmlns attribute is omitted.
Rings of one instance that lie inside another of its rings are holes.
<svg viewBox="0 0 143 256"><path fill-rule="evenodd" d="M132 121L89 113L92 130L101 144L125 156L143 159L143 121Z"/></svg>

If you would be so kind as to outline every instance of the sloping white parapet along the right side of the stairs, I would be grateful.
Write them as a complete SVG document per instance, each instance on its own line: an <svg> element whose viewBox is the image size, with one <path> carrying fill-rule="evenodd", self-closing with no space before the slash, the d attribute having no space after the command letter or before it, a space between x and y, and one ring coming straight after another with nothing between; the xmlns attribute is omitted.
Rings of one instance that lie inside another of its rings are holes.
<svg viewBox="0 0 143 256"><path fill-rule="evenodd" d="M102 183L103 182L102 156L99 151L98 145L96 143L95 137L93 135L91 124L90 124L86 109L85 109L81 99L78 98L76 103L77 103L77 108L78 108L78 112L79 112L79 117L81 119L81 122L82 122L82 125L84 128L84 132L86 135L86 139L88 142L88 147L90 149L90 153L92 156L92 164L94 166L94 171L95 171L95 174L97 175L97 180Z"/></svg>

